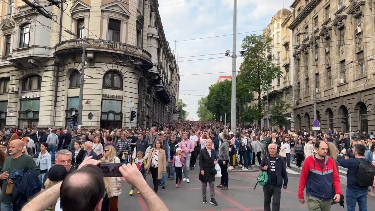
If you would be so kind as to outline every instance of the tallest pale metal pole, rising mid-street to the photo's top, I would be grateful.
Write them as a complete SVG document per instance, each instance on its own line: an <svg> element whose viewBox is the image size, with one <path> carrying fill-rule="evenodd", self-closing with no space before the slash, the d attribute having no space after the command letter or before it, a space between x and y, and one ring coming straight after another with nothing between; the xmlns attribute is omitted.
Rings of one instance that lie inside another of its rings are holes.
<svg viewBox="0 0 375 211"><path fill-rule="evenodd" d="M233 51L232 51L232 98L231 131L236 133L236 45L237 45L237 0L233 1Z"/></svg>

